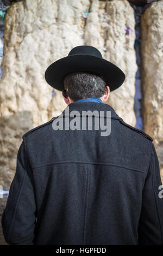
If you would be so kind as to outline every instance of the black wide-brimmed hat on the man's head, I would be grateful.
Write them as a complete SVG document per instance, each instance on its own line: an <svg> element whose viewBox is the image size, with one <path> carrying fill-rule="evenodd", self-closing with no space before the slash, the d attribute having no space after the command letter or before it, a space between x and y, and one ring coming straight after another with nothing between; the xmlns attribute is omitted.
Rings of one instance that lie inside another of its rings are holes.
<svg viewBox="0 0 163 256"><path fill-rule="evenodd" d="M68 56L53 62L46 69L45 79L53 88L63 91L65 77L76 72L90 72L102 76L110 87L110 92L120 87L125 79L120 68L103 59L101 52L89 45L76 46Z"/></svg>

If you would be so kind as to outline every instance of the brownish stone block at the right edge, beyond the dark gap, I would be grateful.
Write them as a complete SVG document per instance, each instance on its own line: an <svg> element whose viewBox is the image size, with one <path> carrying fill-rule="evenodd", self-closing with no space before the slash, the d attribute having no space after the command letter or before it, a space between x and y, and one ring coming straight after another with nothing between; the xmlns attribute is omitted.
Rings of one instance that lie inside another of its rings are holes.
<svg viewBox="0 0 163 256"><path fill-rule="evenodd" d="M163 1L154 2L141 17L143 121L159 157L163 181Z"/></svg>

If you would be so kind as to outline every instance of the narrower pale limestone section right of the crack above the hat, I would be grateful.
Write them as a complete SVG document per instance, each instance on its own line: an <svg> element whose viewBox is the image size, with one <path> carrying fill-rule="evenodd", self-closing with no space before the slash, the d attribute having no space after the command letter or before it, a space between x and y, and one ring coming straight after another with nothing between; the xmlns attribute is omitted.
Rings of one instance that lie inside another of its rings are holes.
<svg viewBox="0 0 163 256"><path fill-rule="evenodd" d="M92 1L85 28L86 44L98 47L103 58L120 67L126 80L116 91L110 93L108 103L117 114L135 126L134 96L135 73L137 71L134 10L124 0ZM129 28L129 34L126 29Z"/></svg>

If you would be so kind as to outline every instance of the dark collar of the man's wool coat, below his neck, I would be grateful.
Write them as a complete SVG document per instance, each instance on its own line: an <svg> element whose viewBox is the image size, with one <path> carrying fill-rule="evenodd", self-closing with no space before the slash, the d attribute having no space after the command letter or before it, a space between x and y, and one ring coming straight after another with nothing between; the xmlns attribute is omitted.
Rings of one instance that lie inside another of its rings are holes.
<svg viewBox="0 0 163 256"><path fill-rule="evenodd" d="M78 111L80 113L80 116L82 116L82 111L104 111L104 117L106 117L106 111L111 111L111 118L112 119L117 119L117 120L122 120L121 117L117 115L115 110L109 105L109 104L101 104L97 102L72 102L68 106L68 111L69 115L71 111ZM63 117L67 116L67 107L66 109L62 112ZM122 120L123 121L123 120Z"/></svg>

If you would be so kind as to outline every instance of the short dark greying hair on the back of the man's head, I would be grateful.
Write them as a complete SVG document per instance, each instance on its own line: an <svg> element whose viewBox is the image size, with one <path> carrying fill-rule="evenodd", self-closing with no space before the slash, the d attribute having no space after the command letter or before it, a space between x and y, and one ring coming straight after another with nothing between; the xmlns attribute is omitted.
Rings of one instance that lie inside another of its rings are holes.
<svg viewBox="0 0 163 256"><path fill-rule="evenodd" d="M103 77L90 72L67 75L64 79L64 87L64 96L70 97L74 102L78 99L102 97L106 91Z"/></svg>

